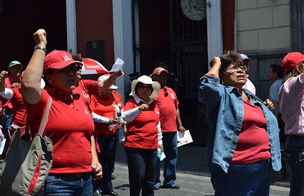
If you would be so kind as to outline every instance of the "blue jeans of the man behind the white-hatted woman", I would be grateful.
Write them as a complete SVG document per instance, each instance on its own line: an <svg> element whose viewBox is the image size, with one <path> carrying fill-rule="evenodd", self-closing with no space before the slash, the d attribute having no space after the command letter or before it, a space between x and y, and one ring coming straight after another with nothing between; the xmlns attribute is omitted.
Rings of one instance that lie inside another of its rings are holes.
<svg viewBox="0 0 304 196"><path fill-rule="evenodd" d="M164 159L164 186L176 185L176 161L177 161L177 132L163 132L163 145L166 158ZM154 186L160 186L160 171L161 161L157 159L156 162L156 177Z"/></svg>

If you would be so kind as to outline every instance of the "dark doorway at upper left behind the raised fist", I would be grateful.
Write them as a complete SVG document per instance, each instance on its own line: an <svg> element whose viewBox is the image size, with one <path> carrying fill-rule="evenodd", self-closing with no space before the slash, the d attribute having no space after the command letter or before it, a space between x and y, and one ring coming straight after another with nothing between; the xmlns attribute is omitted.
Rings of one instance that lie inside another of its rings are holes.
<svg viewBox="0 0 304 196"><path fill-rule="evenodd" d="M13 60L28 64L35 46L33 33L40 28L47 32L47 52L67 50L65 1L3 0L0 25L2 70L8 70Z"/></svg>

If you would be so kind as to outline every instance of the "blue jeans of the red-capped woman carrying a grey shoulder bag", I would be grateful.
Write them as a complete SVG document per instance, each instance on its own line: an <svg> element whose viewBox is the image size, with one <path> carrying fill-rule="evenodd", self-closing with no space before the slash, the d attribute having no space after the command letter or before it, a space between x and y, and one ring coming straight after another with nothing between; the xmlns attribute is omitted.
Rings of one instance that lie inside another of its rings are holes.
<svg viewBox="0 0 304 196"><path fill-rule="evenodd" d="M44 196L92 195L91 173L83 177L75 174L49 174L46 179Z"/></svg>

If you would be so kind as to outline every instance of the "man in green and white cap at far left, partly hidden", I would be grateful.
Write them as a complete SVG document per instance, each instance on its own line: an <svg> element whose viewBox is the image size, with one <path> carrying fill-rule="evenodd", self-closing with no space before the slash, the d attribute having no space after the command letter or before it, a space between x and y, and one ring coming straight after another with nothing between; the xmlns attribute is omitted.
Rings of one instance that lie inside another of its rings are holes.
<svg viewBox="0 0 304 196"><path fill-rule="evenodd" d="M23 65L18 61L12 61L9 64L9 72L10 76L5 79L5 87L6 88L15 88L20 87L21 82L21 69ZM3 109L3 118L2 118L2 126L3 126L3 133L7 139L9 139L9 132L8 129L12 124L14 111L11 102L3 97L0 98L2 102L2 109ZM3 155L6 155L6 152L9 147L9 142L6 142Z"/></svg>

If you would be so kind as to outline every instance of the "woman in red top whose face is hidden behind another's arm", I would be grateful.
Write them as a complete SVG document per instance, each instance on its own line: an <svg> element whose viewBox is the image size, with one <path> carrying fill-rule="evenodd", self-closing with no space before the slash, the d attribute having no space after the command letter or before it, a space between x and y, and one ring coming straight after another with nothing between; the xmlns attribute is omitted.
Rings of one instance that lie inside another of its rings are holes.
<svg viewBox="0 0 304 196"><path fill-rule="evenodd" d="M98 78L98 81L103 82L109 77L109 74L102 75ZM103 174L101 179L94 181L93 186L94 191L101 190L102 194L106 195L118 195L118 193L113 191L111 181L111 171L115 162L117 143L116 129L109 130L110 124L118 122L117 118L121 116L121 109L124 108L120 99L112 94L112 89L117 88L117 86L111 85L100 94L92 95L90 104L97 132L97 143L100 149L98 160L101 163Z"/></svg>

